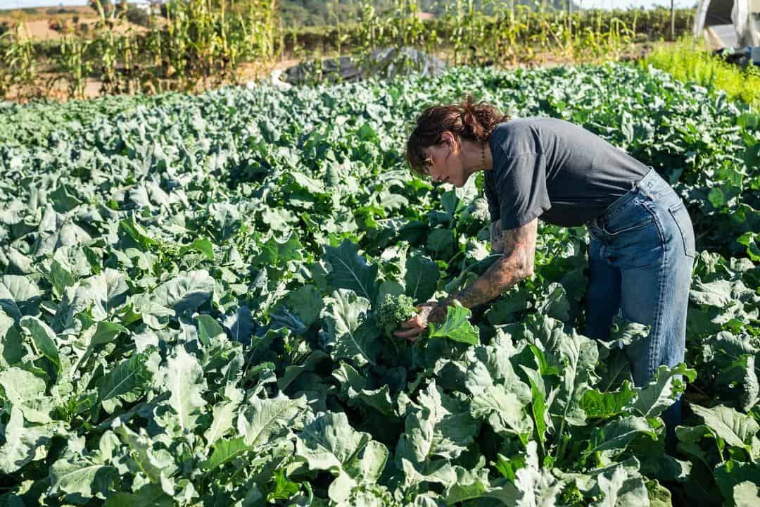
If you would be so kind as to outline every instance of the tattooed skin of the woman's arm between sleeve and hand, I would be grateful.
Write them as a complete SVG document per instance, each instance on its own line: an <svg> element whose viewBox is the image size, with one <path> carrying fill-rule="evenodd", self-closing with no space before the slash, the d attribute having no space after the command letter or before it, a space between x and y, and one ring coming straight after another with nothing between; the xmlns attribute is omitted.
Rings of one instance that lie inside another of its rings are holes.
<svg viewBox="0 0 760 507"><path fill-rule="evenodd" d="M492 233L495 229L494 225L491 226ZM448 306L452 299L458 299L462 306L472 308L495 299L505 290L533 274L538 220L534 219L524 226L505 231L501 230L499 221L498 229L499 234L496 237L492 234L491 243L493 250L494 239L496 239L497 252L502 254L502 258L493 263L470 287L451 294L442 304L442 311L431 312L429 320L432 322L439 322L435 318L443 320L445 306ZM439 313L441 315L438 315Z"/></svg>

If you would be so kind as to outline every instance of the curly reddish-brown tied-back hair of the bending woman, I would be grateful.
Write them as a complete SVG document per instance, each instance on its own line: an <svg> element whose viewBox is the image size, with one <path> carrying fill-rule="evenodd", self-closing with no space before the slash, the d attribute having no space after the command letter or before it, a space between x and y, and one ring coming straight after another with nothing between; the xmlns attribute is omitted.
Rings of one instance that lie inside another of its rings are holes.
<svg viewBox="0 0 760 507"><path fill-rule="evenodd" d="M508 119L496 107L476 102L471 95L461 103L429 107L417 118L407 139L407 163L415 173L427 174L424 149L441 144L443 132L451 132L460 140L486 143L496 125Z"/></svg>

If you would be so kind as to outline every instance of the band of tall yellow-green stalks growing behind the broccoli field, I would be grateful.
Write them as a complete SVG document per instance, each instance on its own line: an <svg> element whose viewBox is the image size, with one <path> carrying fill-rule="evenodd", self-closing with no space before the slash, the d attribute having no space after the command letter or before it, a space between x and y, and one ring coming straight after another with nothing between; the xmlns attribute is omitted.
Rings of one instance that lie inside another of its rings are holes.
<svg viewBox="0 0 760 507"><path fill-rule="evenodd" d="M670 27L665 9L651 11L534 11L498 3L489 14L459 2L441 17L421 20L418 5L394 2L381 13L367 5L361 19L334 27L282 30L276 5L256 0L169 2L147 27L118 28L126 11L106 11L87 33L70 31L57 41L33 40L23 24L0 36L0 95L28 100L55 87L83 97L88 79L101 93L203 90L261 75L284 57L350 55L363 65L372 49L414 47L448 62L505 65L561 58L599 62L632 53L632 45L657 40ZM689 31L694 12L676 11L676 34ZM245 68L245 77L243 75Z"/></svg>

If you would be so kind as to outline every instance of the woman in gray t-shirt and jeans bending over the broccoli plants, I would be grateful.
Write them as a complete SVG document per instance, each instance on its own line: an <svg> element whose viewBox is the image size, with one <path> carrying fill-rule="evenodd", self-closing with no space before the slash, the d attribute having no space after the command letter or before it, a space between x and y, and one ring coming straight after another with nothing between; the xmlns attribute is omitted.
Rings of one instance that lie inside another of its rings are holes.
<svg viewBox="0 0 760 507"><path fill-rule="evenodd" d="M608 340L614 315L651 326L643 343L626 350L636 385L658 366L683 361L694 232L681 199L651 167L578 125L509 120L471 97L422 113L407 162L454 186L483 171L491 250L502 257L470 287L420 306L397 336L414 340L428 322L443 320L454 299L468 308L487 303L533 274L540 219L589 231L587 336ZM663 418L672 431L680 404Z"/></svg>

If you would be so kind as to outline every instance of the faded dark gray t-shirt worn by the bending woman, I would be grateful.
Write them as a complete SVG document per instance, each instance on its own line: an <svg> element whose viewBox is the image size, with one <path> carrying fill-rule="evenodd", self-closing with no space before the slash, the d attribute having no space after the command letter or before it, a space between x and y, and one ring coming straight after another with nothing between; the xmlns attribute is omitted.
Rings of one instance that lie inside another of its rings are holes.
<svg viewBox="0 0 760 507"><path fill-rule="evenodd" d="M584 128L555 118L499 124L485 171L491 220L515 229L536 217L565 227L594 220L650 168Z"/></svg>

